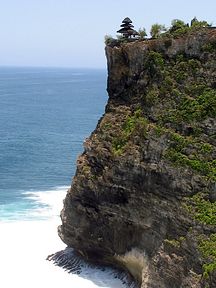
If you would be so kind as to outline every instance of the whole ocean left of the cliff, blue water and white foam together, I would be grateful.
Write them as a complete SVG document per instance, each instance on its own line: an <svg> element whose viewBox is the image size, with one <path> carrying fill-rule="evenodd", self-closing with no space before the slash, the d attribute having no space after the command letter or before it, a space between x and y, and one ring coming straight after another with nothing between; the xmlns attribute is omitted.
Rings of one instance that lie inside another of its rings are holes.
<svg viewBox="0 0 216 288"><path fill-rule="evenodd" d="M109 270L46 261L82 143L107 102L106 71L0 68L0 286L125 287Z"/></svg>

